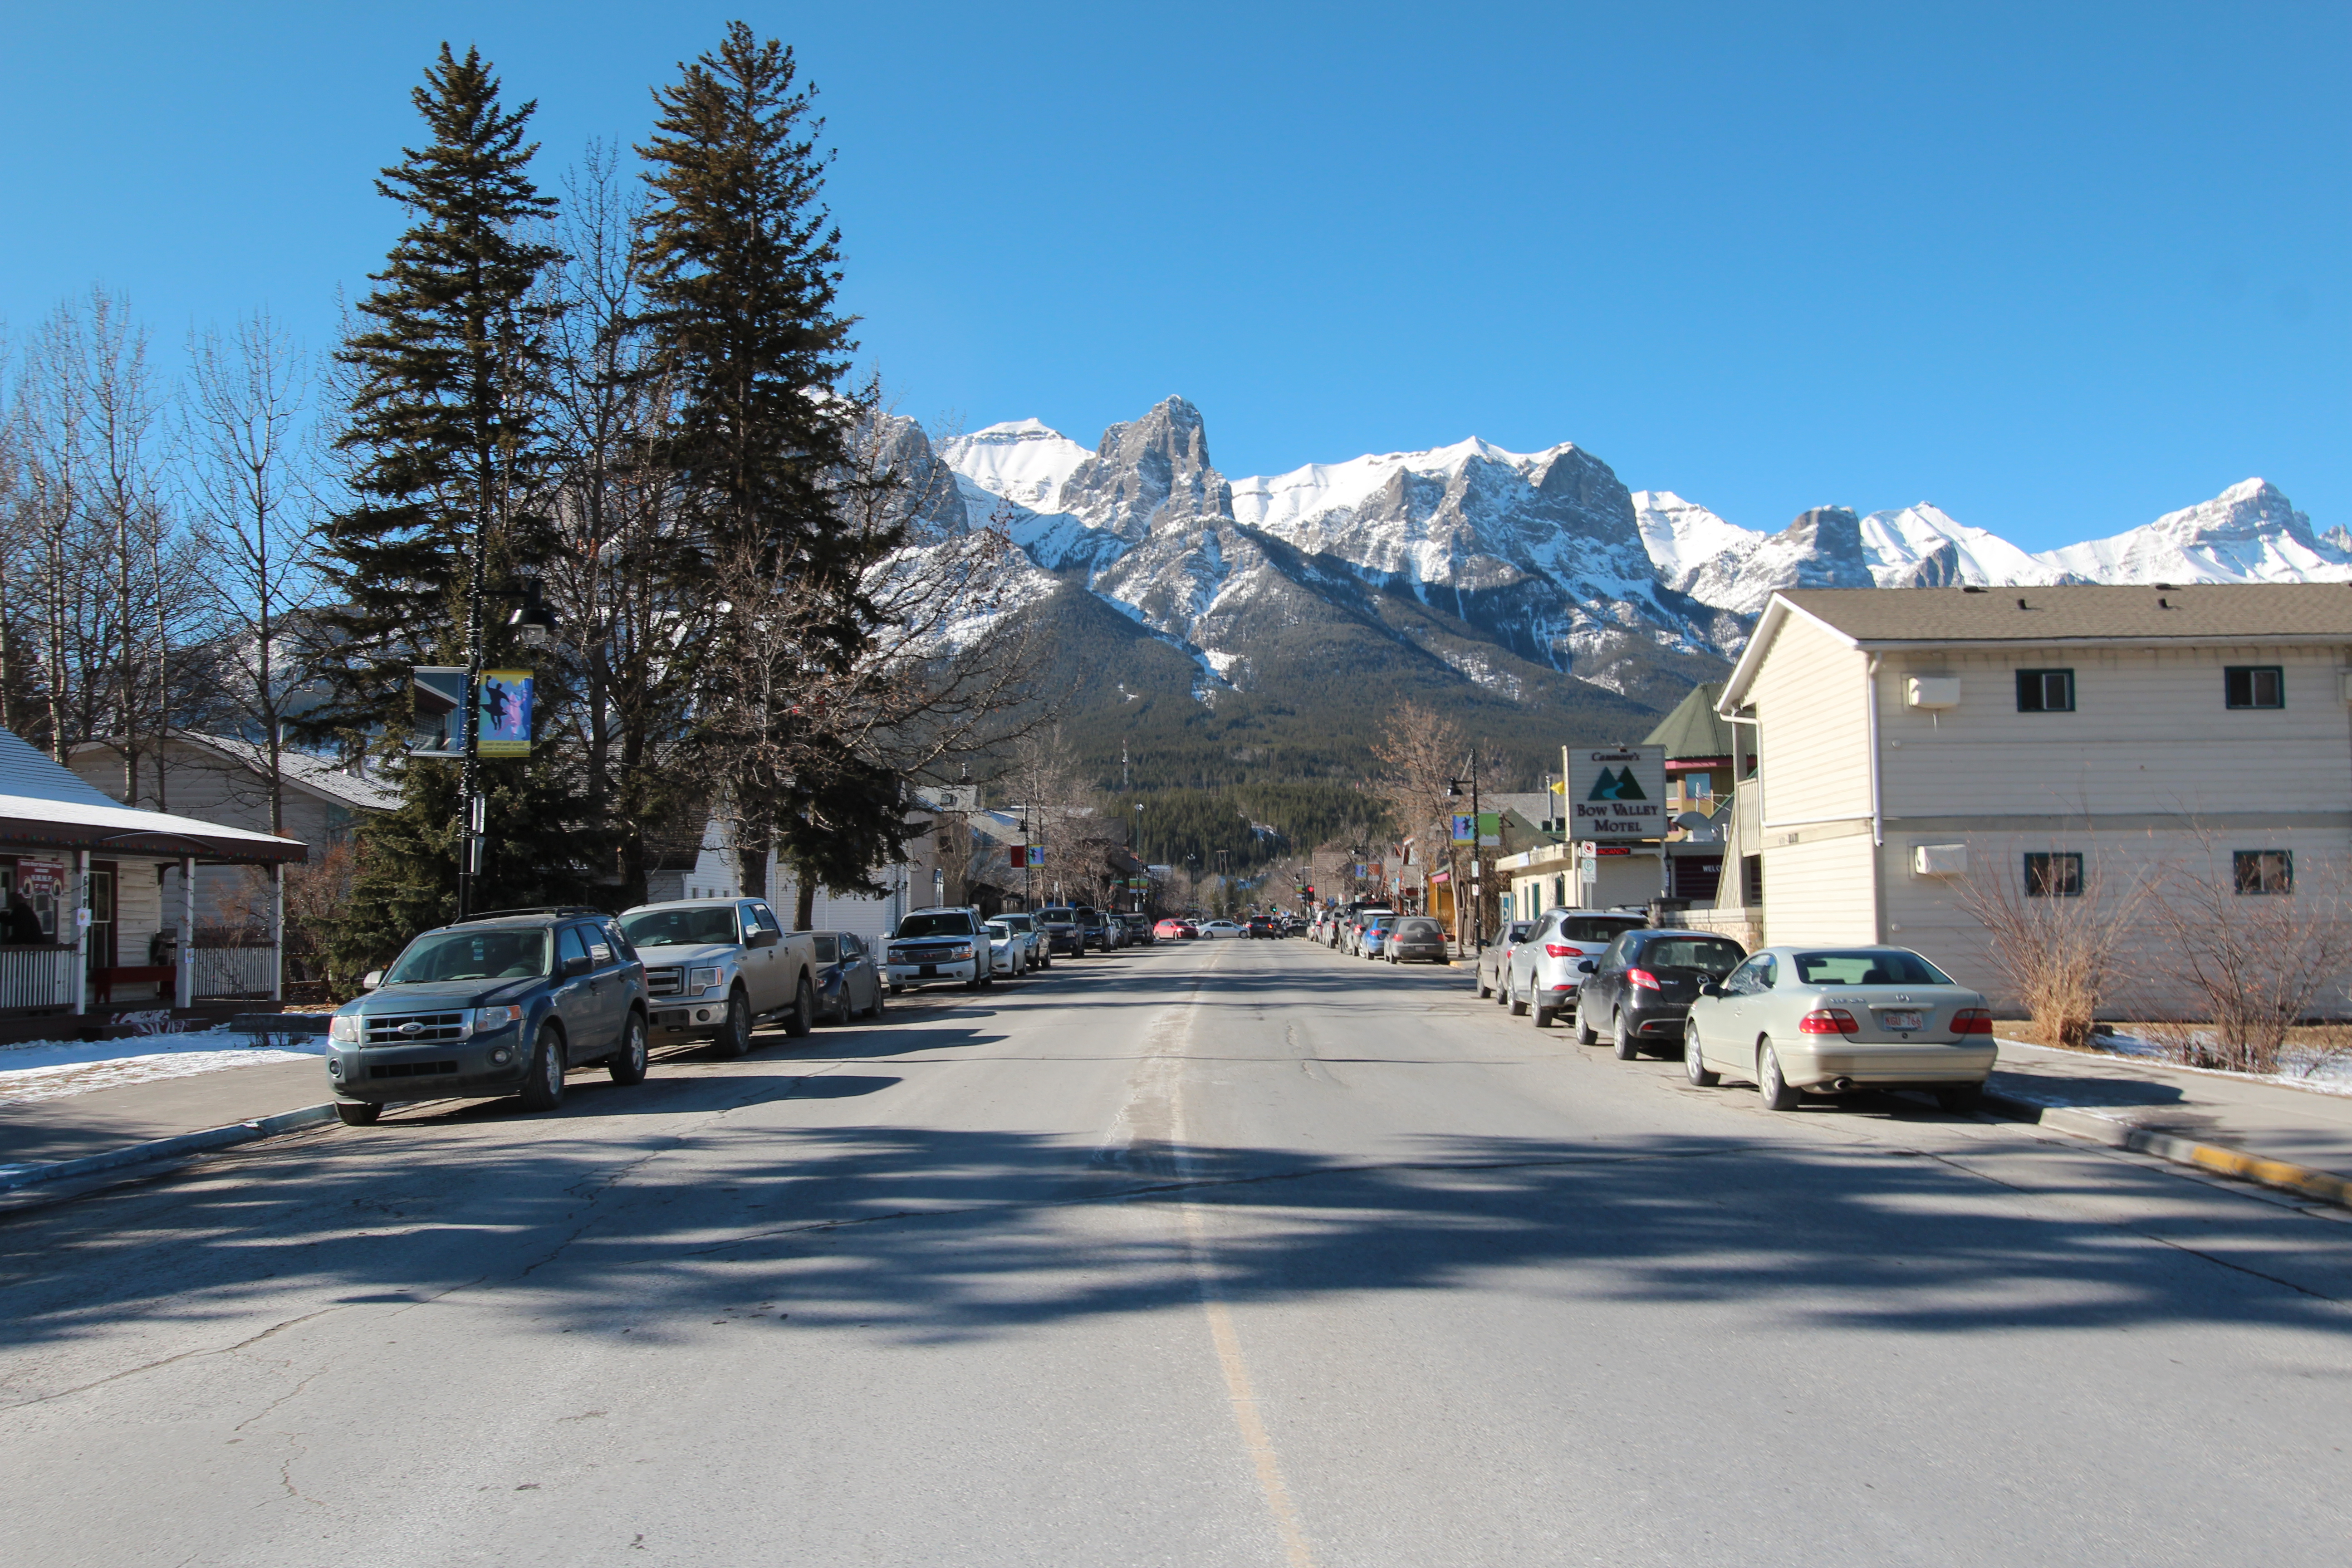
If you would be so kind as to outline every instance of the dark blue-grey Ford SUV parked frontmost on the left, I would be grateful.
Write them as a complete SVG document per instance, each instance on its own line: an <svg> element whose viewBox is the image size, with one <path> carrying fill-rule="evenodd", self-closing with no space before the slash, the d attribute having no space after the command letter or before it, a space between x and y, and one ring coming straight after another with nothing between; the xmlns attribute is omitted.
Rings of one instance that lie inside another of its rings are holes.
<svg viewBox="0 0 2352 1568"><path fill-rule="evenodd" d="M400 1100L522 1095L555 1110L564 1072L644 1079L644 964L595 910L503 910L426 931L327 1023L334 1110L367 1126Z"/></svg>

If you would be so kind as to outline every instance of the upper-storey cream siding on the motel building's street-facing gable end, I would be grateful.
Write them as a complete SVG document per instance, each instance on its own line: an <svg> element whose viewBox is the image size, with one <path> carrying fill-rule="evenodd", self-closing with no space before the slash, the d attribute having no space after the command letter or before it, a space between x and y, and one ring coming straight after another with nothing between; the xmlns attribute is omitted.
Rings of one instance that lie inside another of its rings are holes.
<svg viewBox="0 0 2352 1568"><path fill-rule="evenodd" d="M1790 616L1773 639L1750 693L1766 842L1773 823L1870 816L1865 670L1860 654L1804 616Z"/></svg>

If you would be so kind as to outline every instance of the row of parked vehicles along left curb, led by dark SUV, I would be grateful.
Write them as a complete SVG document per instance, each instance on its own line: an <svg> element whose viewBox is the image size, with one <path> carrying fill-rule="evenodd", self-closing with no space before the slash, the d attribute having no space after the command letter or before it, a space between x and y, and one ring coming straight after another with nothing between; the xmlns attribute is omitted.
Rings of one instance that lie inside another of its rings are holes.
<svg viewBox="0 0 2352 1568"><path fill-rule="evenodd" d="M1056 957L1152 940L1141 914L1087 905L913 910L884 940L786 931L764 898L494 910L426 931L362 980L327 1020L327 1081L350 1126L402 1100L520 1095L553 1110L572 1067L637 1084L654 1044L743 1056L762 1020L797 1037L880 1018L910 987L983 990Z"/></svg>

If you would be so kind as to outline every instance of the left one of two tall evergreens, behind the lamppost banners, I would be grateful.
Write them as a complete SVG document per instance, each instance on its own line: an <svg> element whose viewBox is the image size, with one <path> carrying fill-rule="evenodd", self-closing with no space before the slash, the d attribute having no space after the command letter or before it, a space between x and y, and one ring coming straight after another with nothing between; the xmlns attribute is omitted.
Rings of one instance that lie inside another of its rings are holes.
<svg viewBox="0 0 2352 1568"><path fill-rule="evenodd" d="M529 176L536 103L506 110L480 52L442 45L409 94L428 141L402 148L376 190L409 209L362 324L336 360L350 374L355 505L329 522L327 557L343 604L325 616L346 661L313 729L390 745L409 729L409 665L466 661L466 588L480 541L487 583L546 562L539 510L550 465L541 430L553 306L534 294L557 252L534 237L553 197ZM489 599L501 607L501 599ZM508 663L503 614L489 614L489 663ZM543 691L546 712L557 693ZM336 940L341 961L381 959L456 903L456 766L407 762L402 806L362 830L360 875ZM477 903L579 898L586 877L562 771L543 755L485 764L492 853Z"/></svg>

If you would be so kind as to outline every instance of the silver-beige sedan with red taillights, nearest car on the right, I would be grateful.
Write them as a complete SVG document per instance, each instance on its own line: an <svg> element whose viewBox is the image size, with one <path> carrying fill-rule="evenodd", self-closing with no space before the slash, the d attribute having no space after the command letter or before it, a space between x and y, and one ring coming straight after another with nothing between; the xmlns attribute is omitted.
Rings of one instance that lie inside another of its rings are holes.
<svg viewBox="0 0 2352 1568"><path fill-rule="evenodd" d="M1700 987L1682 1034L1693 1084L1750 1079L1771 1110L1849 1088L1973 1110L1994 1056L1985 997L1907 947L1766 947Z"/></svg>

